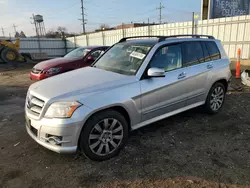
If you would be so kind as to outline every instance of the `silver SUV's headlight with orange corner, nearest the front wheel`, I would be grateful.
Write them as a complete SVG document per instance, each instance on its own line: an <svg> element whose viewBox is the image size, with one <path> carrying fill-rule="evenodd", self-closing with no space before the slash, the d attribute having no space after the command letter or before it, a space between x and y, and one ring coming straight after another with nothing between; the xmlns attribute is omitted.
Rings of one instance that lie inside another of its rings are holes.
<svg viewBox="0 0 250 188"><path fill-rule="evenodd" d="M82 106L81 103L77 101L69 102L55 102L52 103L46 114L46 118L70 118L74 111Z"/></svg>

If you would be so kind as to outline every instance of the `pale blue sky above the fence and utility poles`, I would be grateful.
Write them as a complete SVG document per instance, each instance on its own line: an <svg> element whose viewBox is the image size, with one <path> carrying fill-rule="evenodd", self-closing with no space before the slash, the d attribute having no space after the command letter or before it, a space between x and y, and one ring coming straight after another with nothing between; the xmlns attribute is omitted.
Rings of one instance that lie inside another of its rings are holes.
<svg viewBox="0 0 250 188"><path fill-rule="evenodd" d="M192 11L200 12L201 0L84 0L87 14L87 31L94 30L100 24L116 26L123 23L158 22L160 2L164 22L188 21ZM44 16L46 30L64 26L69 32L82 31L80 0L0 0L0 27L4 28L5 36L14 35L13 24L17 31L26 35L35 35L31 24L32 14ZM0 36L2 35L0 30Z"/></svg>

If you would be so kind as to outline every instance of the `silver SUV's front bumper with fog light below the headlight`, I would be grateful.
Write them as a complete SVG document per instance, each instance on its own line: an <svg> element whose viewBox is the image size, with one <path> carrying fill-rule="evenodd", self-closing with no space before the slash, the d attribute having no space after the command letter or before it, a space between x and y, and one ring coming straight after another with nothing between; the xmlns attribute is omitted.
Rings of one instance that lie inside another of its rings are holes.
<svg viewBox="0 0 250 188"><path fill-rule="evenodd" d="M26 111L26 130L38 144L57 153L74 153L86 115L90 109L82 106L69 119L34 119ZM56 138L56 139L55 139Z"/></svg>

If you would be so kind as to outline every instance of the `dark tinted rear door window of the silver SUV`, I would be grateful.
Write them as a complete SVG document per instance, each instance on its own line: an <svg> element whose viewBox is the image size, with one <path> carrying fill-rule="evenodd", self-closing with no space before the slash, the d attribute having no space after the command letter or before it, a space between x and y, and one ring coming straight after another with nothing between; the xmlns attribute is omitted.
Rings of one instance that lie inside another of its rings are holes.
<svg viewBox="0 0 250 188"><path fill-rule="evenodd" d="M200 42L183 43L183 65L192 66L204 62L204 55Z"/></svg>

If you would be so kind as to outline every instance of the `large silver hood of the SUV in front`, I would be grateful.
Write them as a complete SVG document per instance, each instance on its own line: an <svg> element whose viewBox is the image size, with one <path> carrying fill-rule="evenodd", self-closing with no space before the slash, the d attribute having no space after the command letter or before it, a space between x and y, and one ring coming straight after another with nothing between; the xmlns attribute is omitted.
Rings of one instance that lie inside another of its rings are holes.
<svg viewBox="0 0 250 188"><path fill-rule="evenodd" d="M103 92L136 81L135 76L86 67L39 81L29 91L43 100L62 99Z"/></svg>

